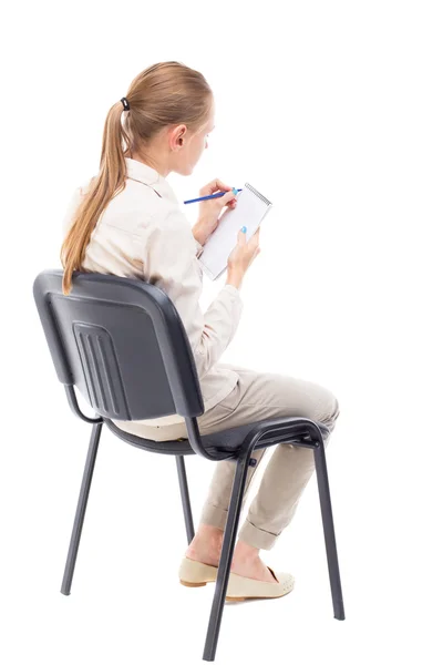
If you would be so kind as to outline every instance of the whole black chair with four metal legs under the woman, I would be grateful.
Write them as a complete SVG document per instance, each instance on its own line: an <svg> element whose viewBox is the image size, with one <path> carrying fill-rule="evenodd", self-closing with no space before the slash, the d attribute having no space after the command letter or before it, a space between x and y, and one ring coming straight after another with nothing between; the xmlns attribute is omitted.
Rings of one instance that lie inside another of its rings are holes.
<svg viewBox="0 0 443 665"><path fill-rule="evenodd" d="M194 538L184 456L200 454L236 463L227 524L207 628L204 661L214 661L225 605L248 466L255 449L293 443L313 451L321 504L334 617L344 620L340 572L328 483L323 436L328 428L307 418L276 418L200 436L197 416L204 405L193 352L182 319L156 286L127 277L73 274L71 293L62 293L63 270L41 272L33 295L59 380L73 412L92 424L91 440L68 552L61 593L72 576L103 422L137 448L175 456L187 541ZM81 412L74 386L96 412ZM156 442L122 431L111 419L142 420L179 413L187 439Z"/></svg>

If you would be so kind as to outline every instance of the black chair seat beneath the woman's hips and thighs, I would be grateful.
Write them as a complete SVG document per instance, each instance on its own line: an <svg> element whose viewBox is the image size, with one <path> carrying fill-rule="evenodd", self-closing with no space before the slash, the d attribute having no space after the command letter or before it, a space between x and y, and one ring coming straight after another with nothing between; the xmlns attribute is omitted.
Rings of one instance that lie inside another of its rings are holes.
<svg viewBox="0 0 443 665"><path fill-rule="evenodd" d="M300 420L299 424L297 424L297 420ZM212 434L202 434L202 444L208 452L213 454L226 453L225 459L228 459L230 457L235 457L236 451L238 448L240 448L248 432L256 427L261 427L264 430L266 430L267 427L269 428L271 423L276 422L281 426L293 423L295 429L292 432L288 433L288 439L293 440L295 436L297 436L297 438L299 438L301 441L302 439L306 439L306 437L310 437L306 426L303 429L303 422L306 422L306 418L297 419L297 417L287 417L248 422L246 424L231 427ZM109 418L103 417L103 421L116 437L126 443L131 443L131 446L136 446L137 448L143 448L144 450L151 450L152 452L159 452L161 454L195 454L188 439L154 441L153 439L145 439L144 437L137 437L136 434L125 432ZM315 422L319 427L323 437L329 434L329 429L326 427L326 424L318 421L311 422ZM268 437L265 436L256 446L256 448L266 448L266 446L269 444L269 439L275 436L276 428L272 429L272 433L270 433Z"/></svg>

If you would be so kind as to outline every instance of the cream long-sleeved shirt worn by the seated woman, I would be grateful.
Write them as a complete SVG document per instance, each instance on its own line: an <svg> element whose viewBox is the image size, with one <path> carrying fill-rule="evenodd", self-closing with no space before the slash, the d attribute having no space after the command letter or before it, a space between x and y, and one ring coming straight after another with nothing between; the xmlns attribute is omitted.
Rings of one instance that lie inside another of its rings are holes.
<svg viewBox="0 0 443 665"><path fill-rule="evenodd" d="M235 387L238 375L217 361L231 341L243 310L239 289L225 285L205 313L199 307L203 270L197 262L202 245L166 178L157 171L125 157L123 192L110 201L92 232L82 264L86 270L132 277L154 284L174 303L194 354L205 411ZM63 221L63 237L90 181L78 187ZM125 430L124 420L114 420ZM185 422L177 413L138 420L151 427ZM131 426L127 431L131 430Z"/></svg>

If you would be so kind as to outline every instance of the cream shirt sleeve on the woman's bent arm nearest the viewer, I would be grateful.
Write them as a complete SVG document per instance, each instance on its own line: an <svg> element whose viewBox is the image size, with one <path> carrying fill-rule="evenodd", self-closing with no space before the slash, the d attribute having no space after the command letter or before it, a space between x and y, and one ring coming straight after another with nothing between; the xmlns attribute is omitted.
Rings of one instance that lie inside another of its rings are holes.
<svg viewBox="0 0 443 665"><path fill-rule="evenodd" d="M243 311L239 289L225 285L206 311L202 311L203 280L196 242L179 211L171 211L158 224L146 229L142 253L144 278L174 303L202 378L218 361L237 330Z"/></svg>

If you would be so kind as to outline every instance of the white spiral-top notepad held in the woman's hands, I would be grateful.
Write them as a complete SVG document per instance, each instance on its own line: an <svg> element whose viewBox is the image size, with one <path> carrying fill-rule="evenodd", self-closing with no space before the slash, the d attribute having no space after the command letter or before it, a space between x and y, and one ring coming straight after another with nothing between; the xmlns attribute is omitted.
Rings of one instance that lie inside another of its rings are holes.
<svg viewBox="0 0 443 665"><path fill-rule="evenodd" d="M246 241L255 234L272 204L253 185L245 183L237 194L237 205L222 215L217 228L203 246L198 257L199 265L209 277L218 279L228 267L228 257L237 244L237 234L247 226Z"/></svg>

